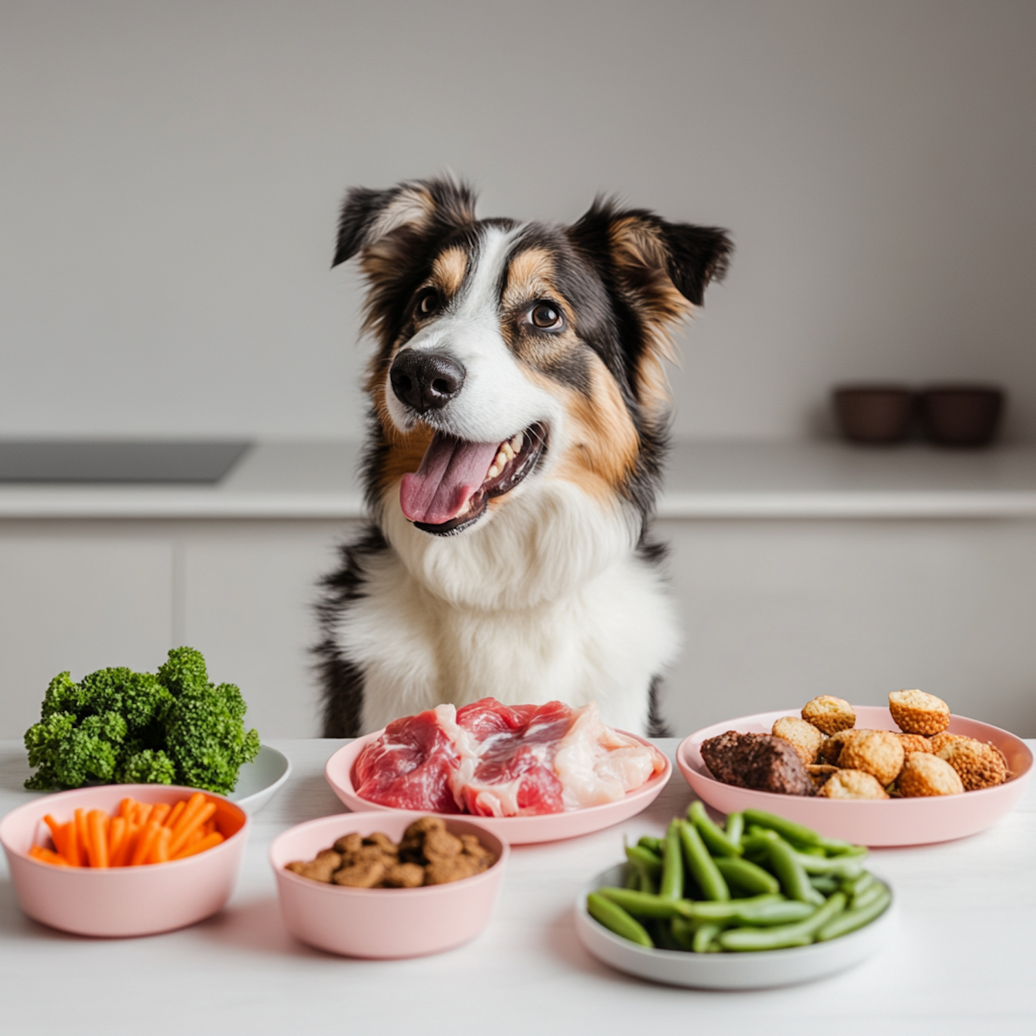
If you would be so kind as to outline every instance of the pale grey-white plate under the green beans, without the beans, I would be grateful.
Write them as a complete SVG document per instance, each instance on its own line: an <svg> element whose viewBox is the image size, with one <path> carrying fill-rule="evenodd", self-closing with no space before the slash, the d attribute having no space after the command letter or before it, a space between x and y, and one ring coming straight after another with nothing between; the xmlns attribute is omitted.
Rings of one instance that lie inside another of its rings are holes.
<svg viewBox="0 0 1036 1036"><path fill-rule="evenodd" d="M683 953L650 950L608 931L586 912L586 895L605 885L623 885L626 865L602 871L579 894L576 931L579 940L599 960L618 971L666 985L697 989L765 989L795 985L845 971L876 953L891 938L896 925L896 898L881 917L857 931L786 950L760 953ZM888 885L888 882L885 883Z"/></svg>

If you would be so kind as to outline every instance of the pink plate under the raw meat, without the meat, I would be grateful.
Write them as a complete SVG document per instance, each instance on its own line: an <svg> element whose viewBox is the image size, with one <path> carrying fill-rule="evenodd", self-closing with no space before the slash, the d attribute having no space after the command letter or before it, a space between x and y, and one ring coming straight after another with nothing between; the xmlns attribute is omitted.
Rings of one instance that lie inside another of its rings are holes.
<svg viewBox="0 0 1036 1036"><path fill-rule="evenodd" d="M344 802L349 809L365 810L377 809L386 812L400 812L393 806L382 806L377 802L370 802L361 799L356 795L352 783L352 769L359 753L377 738L380 738L383 730L377 730L364 738L357 738L344 748L340 748L324 767L324 776L330 784L335 794ZM620 731L625 733L626 731ZM627 737L636 738L644 745L651 744L643 738L634 735ZM664 758L664 756L663 756ZM579 835L588 835L594 831L602 831L610 828L614 824L622 824L623 821L635 816L646 809L659 793L668 783L669 775L672 773L672 764L665 759L665 769L656 774L646 784L638 787L635 792L627 793L617 802L608 802L603 806L587 806L585 809L574 809L566 813L543 813L539 816L472 816L473 821L484 827L487 831L492 831L499 838L503 838L512 845L525 845L529 842L560 841L564 838L576 838ZM428 810L416 810L420 815L427 815ZM467 816L467 813L440 813L440 816Z"/></svg>

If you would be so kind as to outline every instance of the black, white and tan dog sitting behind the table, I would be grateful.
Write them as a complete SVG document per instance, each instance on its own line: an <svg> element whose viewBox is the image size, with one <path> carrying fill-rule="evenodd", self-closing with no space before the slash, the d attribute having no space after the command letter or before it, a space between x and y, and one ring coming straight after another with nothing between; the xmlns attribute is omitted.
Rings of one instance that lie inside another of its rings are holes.
<svg viewBox="0 0 1036 1036"><path fill-rule="evenodd" d="M663 735L662 363L730 238L601 197L569 227L474 207L452 178L342 207L333 266L359 256L376 348L370 521L317 603L323 735L487 696Z"/></svg>

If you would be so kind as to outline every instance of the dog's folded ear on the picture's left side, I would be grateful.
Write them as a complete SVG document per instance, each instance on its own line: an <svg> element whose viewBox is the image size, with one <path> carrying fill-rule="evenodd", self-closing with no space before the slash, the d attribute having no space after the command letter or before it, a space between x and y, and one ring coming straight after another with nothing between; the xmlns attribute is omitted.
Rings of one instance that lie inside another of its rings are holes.
<svg viewBox="0 0 1036 1036"><path fill-rule="evenodd" d="M332 268L390 238L412 241L473 223L474 202L466 183L448 177L407 180L386 191L352 188L342 205Z"/></svg>

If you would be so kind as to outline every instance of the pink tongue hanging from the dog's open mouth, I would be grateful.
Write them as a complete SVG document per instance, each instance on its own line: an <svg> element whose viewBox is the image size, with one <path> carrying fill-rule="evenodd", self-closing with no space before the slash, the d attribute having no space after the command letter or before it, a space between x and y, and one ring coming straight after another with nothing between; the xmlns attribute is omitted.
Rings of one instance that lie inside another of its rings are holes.
<svg viewBox="0 0 1036 1036"><path fill-rule="evenodd" d="M464 442L435 433L421 467L403 476L399 502L409 521L441 525L467 508L485 482L496 442Z"/></svg>

